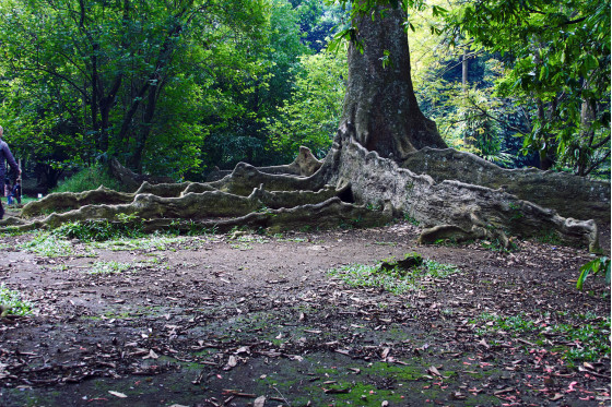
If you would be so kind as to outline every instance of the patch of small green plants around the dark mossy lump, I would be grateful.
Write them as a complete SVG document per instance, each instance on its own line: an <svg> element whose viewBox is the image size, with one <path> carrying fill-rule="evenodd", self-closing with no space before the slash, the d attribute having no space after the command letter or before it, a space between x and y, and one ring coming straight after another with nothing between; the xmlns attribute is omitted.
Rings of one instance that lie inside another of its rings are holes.
<svg viewBox="0 0 612 407"><path fill-rule="evenodd" d="M414 254L407 255L404 260L410 256L414 256ZM388 263L388 261L375 265L351 264L341 268L332 268L329 274L351 287L378 287L399 295L421 288L426 279L445 278L459 272L459 268L451 264L443 264L428 259L424 259L421 265L411 268L381 267L384 263Z"/></svg>

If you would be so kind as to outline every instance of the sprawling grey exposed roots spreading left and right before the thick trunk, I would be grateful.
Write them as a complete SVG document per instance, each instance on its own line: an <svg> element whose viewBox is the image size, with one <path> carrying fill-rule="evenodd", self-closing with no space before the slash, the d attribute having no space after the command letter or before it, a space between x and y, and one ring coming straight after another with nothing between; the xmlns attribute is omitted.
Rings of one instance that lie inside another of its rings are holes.
<svg viewBox="0 0 612 407"><path fill-rule="evenodd" d="M68 222L119 220L122 214L136 217L146 230L170 225L175 229L279 229L369 226L404 215L424 227L421 242L495 239L508 247L513 236L546 236L598 249L593 220L563 218L502 189L456 180L435 182L428 175L416 175L368 152L354 141L349 125L339 130L322 166L310 177L263 172L242 163L214 182L143 183L133 194L104 188L81 194L51 194L26 205L23 215L54 208L71 211L33 223L9 219L0 225L12 224L21 230L55 228Z"/></svg>

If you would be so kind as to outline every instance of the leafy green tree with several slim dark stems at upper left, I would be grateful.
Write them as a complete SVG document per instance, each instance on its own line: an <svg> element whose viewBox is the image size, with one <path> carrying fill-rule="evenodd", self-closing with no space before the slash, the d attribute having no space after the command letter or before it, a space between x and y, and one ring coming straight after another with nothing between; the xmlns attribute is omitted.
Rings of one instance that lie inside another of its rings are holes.
<svg viewBox="0 0 612 407"><path fill-rule="evenodd" d="M232 69L243 57L246 62L239 69L256 71L249 44L258 41L259 28L268 21L267 3L256 0L172 5L146 0L17 0L3 1L1 7L5 15L0 29L4 71L19 77L22 86L49 84L63 96L56 99L61 101L58 110L81 106L71 111L73 129L68 134L82 134L85 143L95 146L83 152L84 161L99 155L118 156L139 170L145 169L145 156L156 159L144 153L146 148L154 153L169 140L175 143L173 149L184 149L188 157L175 170L197 166L198 155L184 148L201 143L201 137L193 136L200 129L189 115L192 107L185 104L199 99L193 68L216 63ZM231 45L239 53L233 60L225 58ZM189 96L177 99L180 95ZM170 108L177 120L158 121L160 106L165 111ZM61 116L46 110L43 113ZM174 133L173 124L179 118L181 131ZM164 135L165 141L156 145L153 139L168 132L174 134Z"/></svg>

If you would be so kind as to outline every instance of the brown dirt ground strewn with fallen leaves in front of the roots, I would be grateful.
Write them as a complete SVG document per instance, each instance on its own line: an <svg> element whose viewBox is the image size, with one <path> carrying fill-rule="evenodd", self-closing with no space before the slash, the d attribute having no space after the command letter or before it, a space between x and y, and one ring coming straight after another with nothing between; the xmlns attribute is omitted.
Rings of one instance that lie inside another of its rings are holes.
<svg viewBox="0 0 612 407"><path fill-rule="evenodd" d="M592 255L417 231L4 236L0 284L34 314L0 319L0 404L610 405L610 290L575 288ZM408 253L445 273L349 275Z"/></svg>

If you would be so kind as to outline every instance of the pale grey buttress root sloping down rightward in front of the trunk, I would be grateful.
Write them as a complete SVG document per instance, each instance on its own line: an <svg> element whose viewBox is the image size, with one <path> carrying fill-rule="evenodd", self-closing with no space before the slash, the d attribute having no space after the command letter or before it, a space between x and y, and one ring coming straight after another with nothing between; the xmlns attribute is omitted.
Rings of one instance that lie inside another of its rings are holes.
<svg viewBox="0 0 612 407"><path fill-rule="evenodd" d="M563 218L502 190L446 180L436 183L428 175L415 175L393 160L369 152L354 141L350 128L340 129L337 170L329 180L351 184L357 203L404 213L425 227L421 241L497 239L554 236L567 244L599 247L593 220ZM331 153L330 153L331 154Z"/></svg>

